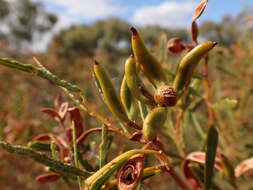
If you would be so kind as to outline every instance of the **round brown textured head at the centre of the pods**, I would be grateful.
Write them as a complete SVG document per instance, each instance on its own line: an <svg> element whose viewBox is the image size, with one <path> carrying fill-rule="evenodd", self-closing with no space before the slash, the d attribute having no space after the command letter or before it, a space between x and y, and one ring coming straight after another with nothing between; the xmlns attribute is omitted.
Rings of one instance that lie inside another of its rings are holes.
<svg viewBox="0 0 253 190"><path fill-rule="evenodd" d="M154 98L160 106L171 107L176 105L178 93L171 86L161 86L157 89Z"/></svg>

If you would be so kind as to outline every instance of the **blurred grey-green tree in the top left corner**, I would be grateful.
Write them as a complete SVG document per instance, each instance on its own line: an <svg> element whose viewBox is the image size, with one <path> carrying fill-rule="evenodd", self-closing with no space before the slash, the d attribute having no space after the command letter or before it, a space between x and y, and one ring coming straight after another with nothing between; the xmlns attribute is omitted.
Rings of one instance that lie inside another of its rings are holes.
<svg viewBox="0 0 253 190"><path fill-rule="evenodd" d="M1 39L14 52L30 49L35 40L43 37L57 23L56 15L48 13L41 3L31 0L0 0Z"/></svg>

